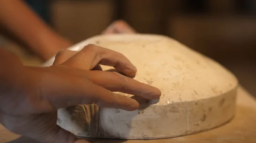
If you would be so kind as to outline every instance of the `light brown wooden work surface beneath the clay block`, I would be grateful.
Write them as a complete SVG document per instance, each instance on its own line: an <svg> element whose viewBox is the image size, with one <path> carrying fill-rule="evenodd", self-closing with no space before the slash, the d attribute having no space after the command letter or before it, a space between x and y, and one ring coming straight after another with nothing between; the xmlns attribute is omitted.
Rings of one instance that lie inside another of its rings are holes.
<svg viewBox="0 0 256 143"><path fill-rule="evenodd" d="M167 126L167 125L166 125ZM256 99L239 87L236 116L218 128L183 137L160 140L98 140L90 143L256 143ZM0 126L0 143L38 143Z"/></svg>

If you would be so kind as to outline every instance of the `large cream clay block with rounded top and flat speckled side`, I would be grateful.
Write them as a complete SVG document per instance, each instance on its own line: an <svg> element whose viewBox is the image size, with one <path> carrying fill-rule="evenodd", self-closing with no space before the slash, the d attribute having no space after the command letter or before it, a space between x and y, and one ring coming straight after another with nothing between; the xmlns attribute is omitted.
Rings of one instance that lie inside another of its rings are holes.
<svg viewBox="0 0 256 143"><path fill-rule="evenodd" d="M133 112L96 105L59 109L57 124L79 137L177 137L221 126L234 117L236 77L214 60L174 39L153 34L100 35L70 50L80 50L87 44L124 54L137 67L134 79L159 88L162 96L154 101L137 98L140 108ZM45 66L50 66L53 60Z"/></svg>

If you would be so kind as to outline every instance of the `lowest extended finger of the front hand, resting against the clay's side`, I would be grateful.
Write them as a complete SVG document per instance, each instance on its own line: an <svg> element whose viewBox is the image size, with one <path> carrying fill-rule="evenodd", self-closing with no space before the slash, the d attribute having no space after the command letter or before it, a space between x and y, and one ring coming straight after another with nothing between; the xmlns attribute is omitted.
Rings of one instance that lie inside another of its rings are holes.
<svg viewBox="0 0 256 143"><path fill-rule="evenodd" d="M59 101L55 99L55 102L52 102L52 105L55 106L55 109L66 108L78 104L96 104L99 107L117 108L126 111L134 111L139 108L139 103L136 100L128 96L113 93L103 87L94 85L90 89L83 89L85 90L83 91L84 94L77 94L77 91L74 89L70 89L70 91L72 90L72 93L66 91L66 93L61 95L62 97L59 97L61 99Z"/></svg>

